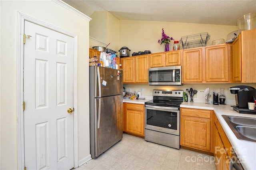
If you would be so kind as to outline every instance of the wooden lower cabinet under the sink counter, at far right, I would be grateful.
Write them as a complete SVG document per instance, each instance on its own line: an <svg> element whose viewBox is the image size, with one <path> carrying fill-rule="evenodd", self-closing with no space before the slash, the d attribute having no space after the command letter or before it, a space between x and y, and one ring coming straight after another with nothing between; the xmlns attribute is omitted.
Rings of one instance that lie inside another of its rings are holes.
<svg viewBox="0 0 256 170"><path fill-rule="evenodd" d="M215 157L216 170L228 170L231 158L230 144L224 130L222 129L217 117L213 116L213 154Z"/></svg>

